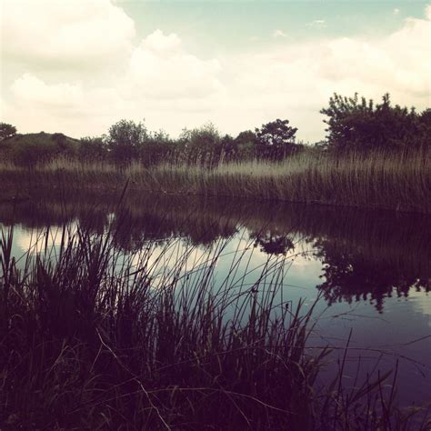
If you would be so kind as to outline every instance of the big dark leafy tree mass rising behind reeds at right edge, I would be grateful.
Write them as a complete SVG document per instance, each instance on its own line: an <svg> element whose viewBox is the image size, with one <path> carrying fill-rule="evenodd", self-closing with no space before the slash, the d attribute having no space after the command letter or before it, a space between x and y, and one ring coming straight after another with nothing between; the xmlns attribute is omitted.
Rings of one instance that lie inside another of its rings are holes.
<svg viewBox="0 0 431 431"><path fill-rule="evenodd" d="M393 106L388 94L380 104L365 97L359 99L357 93L353 97L335 94L320 112L329 117L324 120L327 140L337 151L417 146L426 142L430 130L429 113L417 115L414 108Z"/></svg>

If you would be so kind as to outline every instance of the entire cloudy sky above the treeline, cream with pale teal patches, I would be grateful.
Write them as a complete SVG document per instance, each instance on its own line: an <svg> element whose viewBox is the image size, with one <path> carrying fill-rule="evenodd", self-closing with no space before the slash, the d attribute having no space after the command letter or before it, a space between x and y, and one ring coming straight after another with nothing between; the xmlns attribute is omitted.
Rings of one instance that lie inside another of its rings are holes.
<svg viewBox="0 0 431 431"><path fill-rule="evenodd" d="M101 135L121 118L177 135L287 118L356 91L431 105L431 5L405 1L0 0L0 121Z"/></svg>

